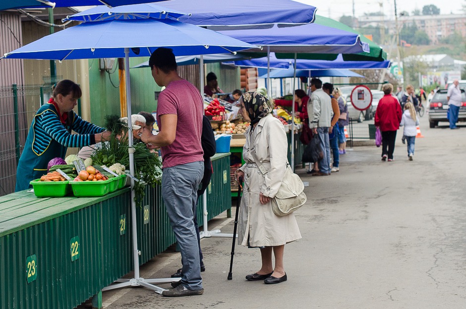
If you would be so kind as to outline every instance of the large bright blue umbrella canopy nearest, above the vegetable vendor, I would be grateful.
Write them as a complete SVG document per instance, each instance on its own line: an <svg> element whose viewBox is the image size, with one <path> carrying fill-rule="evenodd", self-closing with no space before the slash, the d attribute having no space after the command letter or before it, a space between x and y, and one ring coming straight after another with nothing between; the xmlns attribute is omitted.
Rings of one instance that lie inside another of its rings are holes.
<svg viewBox="0 0 466 309"><path fill-rule="evenodd" d="M82 23L20 47L4 55L19 59L94 59L149 57L158 47L176 56L220 54L255 46L171 19L111 20Z"/></svg>

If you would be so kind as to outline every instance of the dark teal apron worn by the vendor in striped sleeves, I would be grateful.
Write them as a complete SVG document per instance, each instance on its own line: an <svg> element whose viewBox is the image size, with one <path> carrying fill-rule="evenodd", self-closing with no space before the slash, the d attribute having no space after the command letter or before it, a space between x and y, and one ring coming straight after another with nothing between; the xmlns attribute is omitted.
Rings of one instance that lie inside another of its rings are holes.
<svg viewBox="0 0 466 309"><path fill-rule="evenodd" d="M41 106L41 108L37 111L36 116L34 116L34 120L31 124L31 128L29 129L23 152L19 158L18 168L16 169L16 186L14 188L15 192L31 188L32 185L29 184L31 181L39 179L42 175L47 174L47 164L49 164L50 160L57 157L64 158L66 155L66 150L68 147L61 145L53 138L44 152L36 153L33 150L33 142L35 138L34 126L36 124L36 119L38 116L49 109L57 113L55 106L53 104L47 103ZM67 122L69 121L70 117L68 117ZM68 132L71 133L70 126L68 124L63 125L68 130Z"/></svg>

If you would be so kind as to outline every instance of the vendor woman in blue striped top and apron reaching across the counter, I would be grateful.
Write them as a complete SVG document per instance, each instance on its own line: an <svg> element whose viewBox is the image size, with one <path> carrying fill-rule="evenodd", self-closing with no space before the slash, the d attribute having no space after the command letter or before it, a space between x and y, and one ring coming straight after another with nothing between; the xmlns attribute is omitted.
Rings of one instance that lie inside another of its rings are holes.
<svg viewBox="0 0 466 309"><path fill-rule="evenodd" d="M77 84L64 79L54 87L49 102L37 111L19 158L15 191L31 187L29 182L47 174L49 161L64 158L68 147L92 145L110 136L109 131L84 121L73 111L81 95ZM78 134L71 134L71 130Z"/></svg>

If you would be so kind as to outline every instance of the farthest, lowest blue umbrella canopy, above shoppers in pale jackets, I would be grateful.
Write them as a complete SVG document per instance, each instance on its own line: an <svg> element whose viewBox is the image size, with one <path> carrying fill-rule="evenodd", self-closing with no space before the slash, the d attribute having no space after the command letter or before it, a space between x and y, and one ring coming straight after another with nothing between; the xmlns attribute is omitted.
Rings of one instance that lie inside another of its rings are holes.
<svg viewBox="0 0 466 309"><path fill-rule="evenodd" d="M361 77L364 76L355 73L347 69L322 69L322 70L313 70L313 69L298 69L296 70L296 76L294 76L294 68L290 67L288 69L274 69L270 72L270 78L289 78L289 77ZM267 78L267 74L259 76L259 78Z"/></svg>

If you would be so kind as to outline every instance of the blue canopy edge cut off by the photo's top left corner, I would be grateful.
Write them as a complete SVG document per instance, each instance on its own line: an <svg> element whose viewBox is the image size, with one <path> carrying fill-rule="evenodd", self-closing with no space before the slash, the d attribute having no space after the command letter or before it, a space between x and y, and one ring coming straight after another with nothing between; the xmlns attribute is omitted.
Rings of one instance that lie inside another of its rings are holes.
<svg viewBox="0 0 466 309"><path fill-rule="evenodd" d="M0 11L14 8L70 7L102 4L117 6L158 1L162 0L2 0L0 1Z"/></svg>

